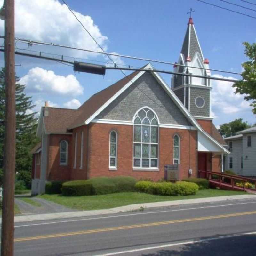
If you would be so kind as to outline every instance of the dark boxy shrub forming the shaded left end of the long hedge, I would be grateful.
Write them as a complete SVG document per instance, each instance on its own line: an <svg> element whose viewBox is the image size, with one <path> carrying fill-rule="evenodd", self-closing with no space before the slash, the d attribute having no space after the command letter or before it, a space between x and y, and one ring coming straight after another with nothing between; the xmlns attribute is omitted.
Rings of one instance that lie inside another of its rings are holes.
<svg viewBox="0 0 256 256"><path fill-rule="evenodd" d="M62 184L63 196L92 195L92 184L88 180L72 180Z"/></svg>

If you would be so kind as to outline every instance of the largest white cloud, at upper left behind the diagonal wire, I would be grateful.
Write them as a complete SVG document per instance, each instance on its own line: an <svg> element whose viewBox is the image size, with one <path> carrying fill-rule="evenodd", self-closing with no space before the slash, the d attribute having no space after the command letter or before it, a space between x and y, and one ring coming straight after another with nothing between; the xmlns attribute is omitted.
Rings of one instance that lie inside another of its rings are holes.
<svg viewBox="0 0 256 256"><path fill-rule="evenodd" d="M3 0L0 0L0 6L2 4ZM94 24L92 18L76 11L73 12L96 41L106 50L108 37L101 34L100 29ZM0 20L0 32L1 34L4 33L4 20ZM15 36L101 51L68 10L67 6L57 0L16 0ZM26 45L20 48L26 48ZM57 48L50 48L56 49L57 52L64 51L63 49L57 50ZM49 52L49 47L47 49L47 52ZM56 53L55 50L53 51ZM74 54L76 52L76 57L85 57L93 54L72 50L69 52L73 52Z"/></svg>

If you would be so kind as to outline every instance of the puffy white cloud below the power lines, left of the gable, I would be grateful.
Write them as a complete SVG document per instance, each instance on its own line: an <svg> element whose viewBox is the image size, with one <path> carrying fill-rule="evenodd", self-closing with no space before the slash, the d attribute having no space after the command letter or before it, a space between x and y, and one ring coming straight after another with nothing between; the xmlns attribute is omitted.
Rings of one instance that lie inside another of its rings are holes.
<svg viewBox="0 0 256 256"><path fill-rule="evenodd" d="M83 94L83 87L74 75L59 76L52 70L31 68L28 74L21 77L20 84L26 85L26 92L54 94Z"/></svg>

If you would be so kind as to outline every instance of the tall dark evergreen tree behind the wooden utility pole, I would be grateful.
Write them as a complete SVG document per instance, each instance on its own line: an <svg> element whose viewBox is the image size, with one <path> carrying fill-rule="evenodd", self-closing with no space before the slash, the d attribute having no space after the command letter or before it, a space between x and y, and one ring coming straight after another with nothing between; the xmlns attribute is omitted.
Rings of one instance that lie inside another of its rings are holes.
<svg viewBox="0 0 256 256"><path fill-rule="evenodd" d="M16 77L16 81L18 81ZM37 119L31 109L31 97L24 93L25 85L16 83L16 178L31 186L32 155L30 150L38 142L36 138ZM5 119L5 72L0 71L0 185L2 185L4 159Z"/></svg>

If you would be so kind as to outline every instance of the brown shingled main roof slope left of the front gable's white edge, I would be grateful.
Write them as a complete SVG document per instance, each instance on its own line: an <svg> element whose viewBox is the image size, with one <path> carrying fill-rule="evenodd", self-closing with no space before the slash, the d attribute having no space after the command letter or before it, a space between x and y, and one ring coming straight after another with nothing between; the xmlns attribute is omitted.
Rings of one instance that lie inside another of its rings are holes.
<svg viewBox="0 0 256 256"><path fill-rule="evenodd" d="M144 68L144 67L142 67ZM104 105L111 97L113 97L118 91L120 91L125 84L129 83L132 78L139 74L140 71L135 71L130 75L119 80L115 84L112 84L105 88L104 90L95 93L84 102L82 106L78 108L81 114L74 120L74 122L68 126L69 129L80 126L84 123L90 116L92 116L102 105Z"/></svg>

